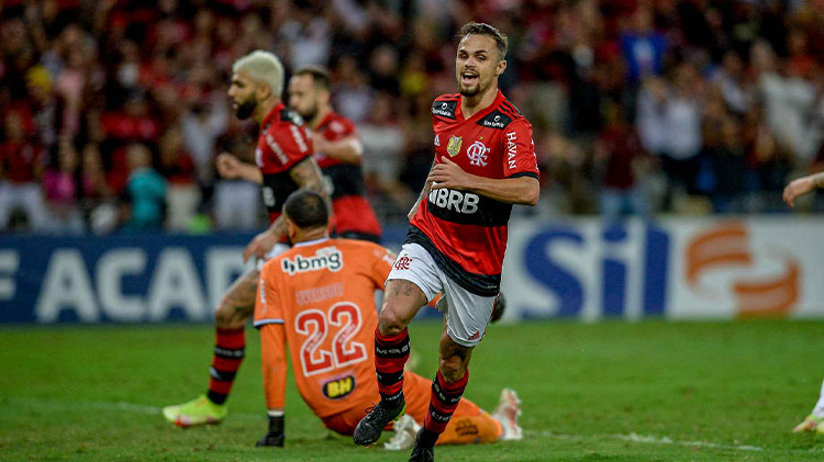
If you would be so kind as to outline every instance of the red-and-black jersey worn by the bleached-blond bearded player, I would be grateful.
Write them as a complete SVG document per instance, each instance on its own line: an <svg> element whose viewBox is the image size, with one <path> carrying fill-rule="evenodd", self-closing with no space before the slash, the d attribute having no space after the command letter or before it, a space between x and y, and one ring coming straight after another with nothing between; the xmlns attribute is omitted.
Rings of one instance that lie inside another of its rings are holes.
<svg viewBox="0 0 824 462"><path fill-rule="evenodd" d="M280 216L283 202L300 185L289 171L312 154L312 139L307 135L303 120L297 112L276 105L260 124L255 164L264 176L264 205L269 223Z"/></svg>

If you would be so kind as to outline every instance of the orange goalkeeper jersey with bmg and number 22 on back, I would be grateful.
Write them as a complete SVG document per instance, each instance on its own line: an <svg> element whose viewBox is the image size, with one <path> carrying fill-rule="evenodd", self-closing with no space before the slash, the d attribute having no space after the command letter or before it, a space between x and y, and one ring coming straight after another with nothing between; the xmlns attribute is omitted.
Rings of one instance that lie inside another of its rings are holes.
<svg viewBox="0 0 824 462"><path fill-rule="evenodd" d="M393 263L394 256L383 247L352 239L300 243L266 262L255 327L282 325L282 335L276 329L277 336L267 340L277 340L264 343L264 350L275 350L263 351L264 357L276 358L265 360L267 394L277 395L267 402L283 403L287 346L298 391L319 417L378 396L375 290L383 289Z"/></svg>

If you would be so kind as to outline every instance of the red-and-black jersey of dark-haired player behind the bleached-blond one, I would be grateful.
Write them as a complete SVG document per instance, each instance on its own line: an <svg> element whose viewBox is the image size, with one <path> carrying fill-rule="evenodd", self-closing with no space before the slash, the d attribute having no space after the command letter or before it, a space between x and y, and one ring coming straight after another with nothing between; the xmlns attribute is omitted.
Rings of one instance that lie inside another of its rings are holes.
<svg viewBox="0 0 824 462"><path fill-rule="evenodd" d="M325 139L339 142L357 136L355 124L343 115L330 111L315 128ZM330 184L332 209L334 211L334 230L339 235L354 233L379 239L380 222L366 200L366 185L360 162L347 164L315 153L318 165Z"/></svg>

